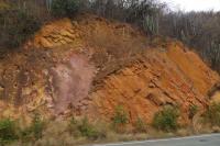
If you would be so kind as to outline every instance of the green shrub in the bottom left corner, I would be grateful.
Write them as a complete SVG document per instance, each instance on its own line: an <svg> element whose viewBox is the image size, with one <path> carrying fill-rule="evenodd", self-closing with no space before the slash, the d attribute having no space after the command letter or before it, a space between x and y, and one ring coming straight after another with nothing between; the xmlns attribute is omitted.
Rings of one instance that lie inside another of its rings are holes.
<svg viewBox="0 0 220 146"><path fill-rule="evenodd" d="M0 120L0 143L6 144L18 139L16 126L10 119Z"/></svg>

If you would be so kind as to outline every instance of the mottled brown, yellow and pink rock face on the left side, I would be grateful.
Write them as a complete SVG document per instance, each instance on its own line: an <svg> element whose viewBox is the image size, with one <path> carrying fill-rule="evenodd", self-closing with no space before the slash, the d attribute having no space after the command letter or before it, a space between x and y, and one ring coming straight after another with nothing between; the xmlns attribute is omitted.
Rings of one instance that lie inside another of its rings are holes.
<svg viewBox="0 0 220 146"><path fill-rule="evenodd" d="M73 50L30 49L0 61L0 115L61 115L86 109L95 66ZM26 55L25 55L26 54ZM20 112L18 112L20 111Z"/></svg>

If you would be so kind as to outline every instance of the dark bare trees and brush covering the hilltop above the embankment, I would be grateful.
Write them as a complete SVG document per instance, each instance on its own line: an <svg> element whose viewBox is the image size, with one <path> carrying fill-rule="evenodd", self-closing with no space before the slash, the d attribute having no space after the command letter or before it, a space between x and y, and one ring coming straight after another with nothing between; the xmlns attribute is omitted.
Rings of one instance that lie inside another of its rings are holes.
<svg viewBox="0 0 220 146"><path fill-rule="evenodd" d="M220 13L172 12L155 0L1 0L0 48L19 47L43 23L77 12L128 22L147 35L178 38L195 48L210 66L220 71ZM13 40L13 41L12 41Z"/></svg>

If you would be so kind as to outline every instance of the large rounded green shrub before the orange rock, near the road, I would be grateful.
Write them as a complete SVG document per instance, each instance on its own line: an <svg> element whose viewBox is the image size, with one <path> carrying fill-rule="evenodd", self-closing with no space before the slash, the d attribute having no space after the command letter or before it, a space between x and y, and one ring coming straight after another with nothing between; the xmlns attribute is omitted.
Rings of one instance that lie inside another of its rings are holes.
<svg viewBox="0 0 220 146"><path fill-rule="evenodd" d="M175 131L178 126L178 110L173 106L166 106L157 112L153 119L153 126L162 131Z"/></svg>

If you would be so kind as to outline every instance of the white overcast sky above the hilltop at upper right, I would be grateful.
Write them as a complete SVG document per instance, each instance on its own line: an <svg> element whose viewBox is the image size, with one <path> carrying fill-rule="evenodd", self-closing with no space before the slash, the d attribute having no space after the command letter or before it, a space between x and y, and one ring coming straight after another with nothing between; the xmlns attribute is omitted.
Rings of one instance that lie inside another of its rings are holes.
<svg viewBox="0 0 220 146"><path fill-rule="evenodd" d="M167 2L172 10L220 11L220 0L161 0Z"/></svg>

